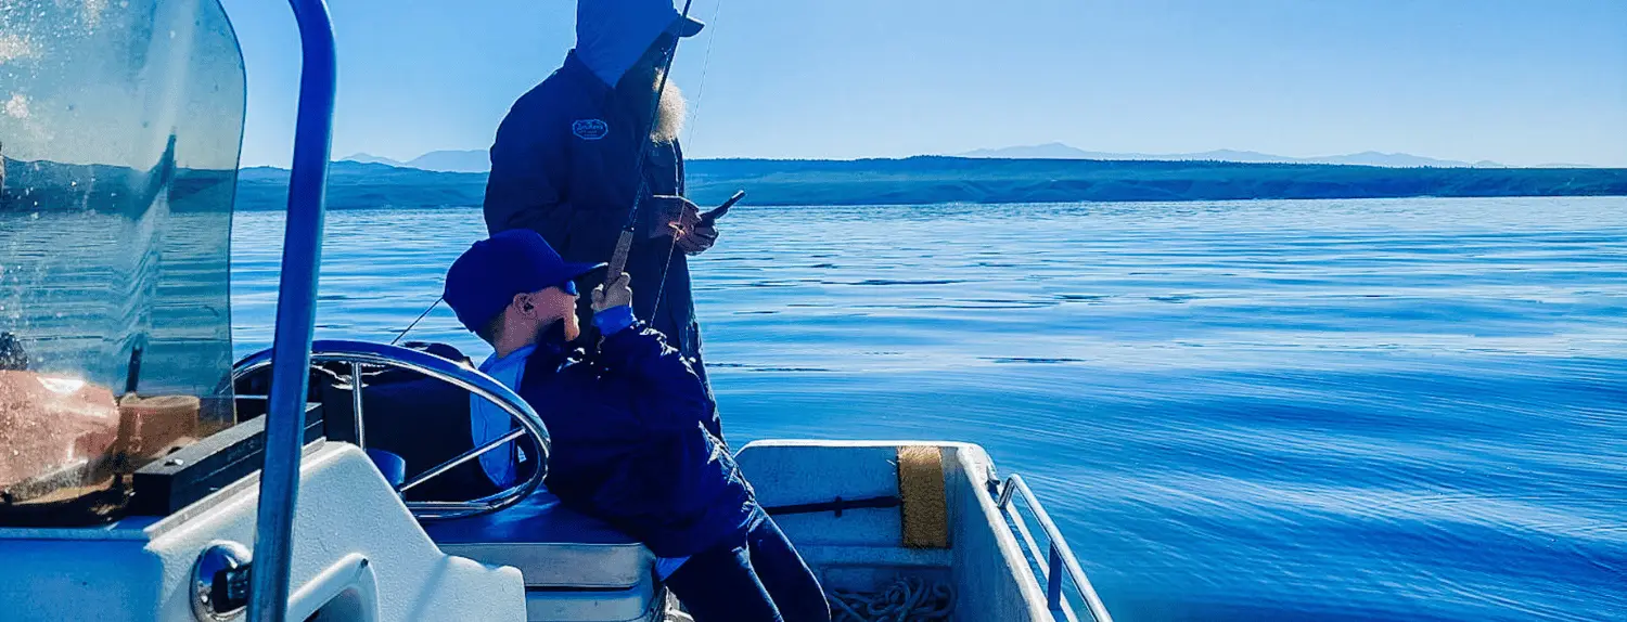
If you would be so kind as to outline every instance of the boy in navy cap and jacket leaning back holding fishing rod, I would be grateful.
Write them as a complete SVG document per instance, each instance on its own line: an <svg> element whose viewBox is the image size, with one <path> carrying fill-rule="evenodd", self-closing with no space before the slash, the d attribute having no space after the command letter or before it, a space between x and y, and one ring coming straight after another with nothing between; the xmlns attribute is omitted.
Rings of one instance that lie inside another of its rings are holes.
<svg viewBox="0 0 1627 622"><path fill-rule="evenodd" d="M475 242L446 274L447 305L495 349L482 370L548 425L548 490L644 542L698 622L828 622L818 580L708 429L706 387L633 317L626 274L594 289L597 352L571 349L581 333L573 281L595 268L566 263L539 234L516 229ZM508 430L506 416L477 408L473 419L477 443ZM488 451L482 466L506 486L524 460L516 453Z"/></svg>

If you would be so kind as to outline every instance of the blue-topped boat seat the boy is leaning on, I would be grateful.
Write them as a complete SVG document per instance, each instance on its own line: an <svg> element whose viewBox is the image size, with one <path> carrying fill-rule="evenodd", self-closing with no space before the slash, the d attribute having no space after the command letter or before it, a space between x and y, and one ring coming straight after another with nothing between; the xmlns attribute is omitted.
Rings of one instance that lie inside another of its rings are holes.
<svg viewBox="0 0 1627 622"><path fill-rule="evenodd" d="M428 521L425 531L452 555L511 565L527 588L631 590L654 585L656 557L600 520L537 492L503 512Z"/></svg>

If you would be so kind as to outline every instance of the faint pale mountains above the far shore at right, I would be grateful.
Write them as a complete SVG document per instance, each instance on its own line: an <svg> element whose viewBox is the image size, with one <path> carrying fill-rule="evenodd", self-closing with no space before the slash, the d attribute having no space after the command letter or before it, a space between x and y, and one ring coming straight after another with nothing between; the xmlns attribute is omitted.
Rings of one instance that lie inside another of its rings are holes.
<svg viewBox="0 0 1627 622"><path fill-rule="evenodd" d="M1455 159L1437 159L1414 156L1407 153L1378 153L1378 151L1362 151L1346 156L1323 156L1323 158L1289 158L1274 156L1269 153L1258 151L1235 151L1235 149L1219 149L1219 151L1202 151L1202 153L1105 153L1105 151L1085 151L1075 146L1062 143L1046 143L1046 145L1027 145L1027 146L1007 146L999 149L976 149L960 154L962 158L999 158L999 159L1106 159L1106 161L1167 161L1167 162L1191 162L1191 161L1214 161L1214 162L1253 162L1253 164L1349 164L1349 166L1383 166L1391 169L1409 169L1409 167L1438 167L1438 169L1502 169L1503 164L1492 161L1479 162L1461 162ZM1551 164L1542 167L1554 169L1585 169L1575 164Z"/></svg>

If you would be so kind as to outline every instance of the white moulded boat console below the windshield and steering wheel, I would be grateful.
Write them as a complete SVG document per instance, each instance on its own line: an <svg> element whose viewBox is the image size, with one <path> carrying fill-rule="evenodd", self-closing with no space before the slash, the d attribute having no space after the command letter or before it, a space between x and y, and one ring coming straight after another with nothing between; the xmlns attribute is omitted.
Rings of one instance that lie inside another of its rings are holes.
<svg viewBox="0 0 1627 622"><path fill-rule="evenodd" d="M252 547L257 484L246 477L163 520L0 528L0 619L194 620L192 565L212 542ZM308 450L299 487L290 619L526 619L519 570L443 554L356 447Z"/></svg>

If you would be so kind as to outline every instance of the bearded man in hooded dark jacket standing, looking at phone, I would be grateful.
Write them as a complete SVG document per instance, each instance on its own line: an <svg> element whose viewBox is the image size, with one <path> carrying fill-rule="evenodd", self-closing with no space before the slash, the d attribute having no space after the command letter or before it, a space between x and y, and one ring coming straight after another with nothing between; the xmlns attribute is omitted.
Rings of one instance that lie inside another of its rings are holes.
<svg viewBox="0 0 1627 622"><path fill-rule="evenodd" d="M493 234L542 234L569 261L607 261L643 190L626 271L646 296L633 309L704 382L687 255L709 248L718 229L700 222L700 209L680 197L683 96L674 83L665 83L651 120L667 55L678 37L700 29L670 0L581 0L576 49L498 128L485 218ZM584 318L589 312L582 309Z"/></svg>

